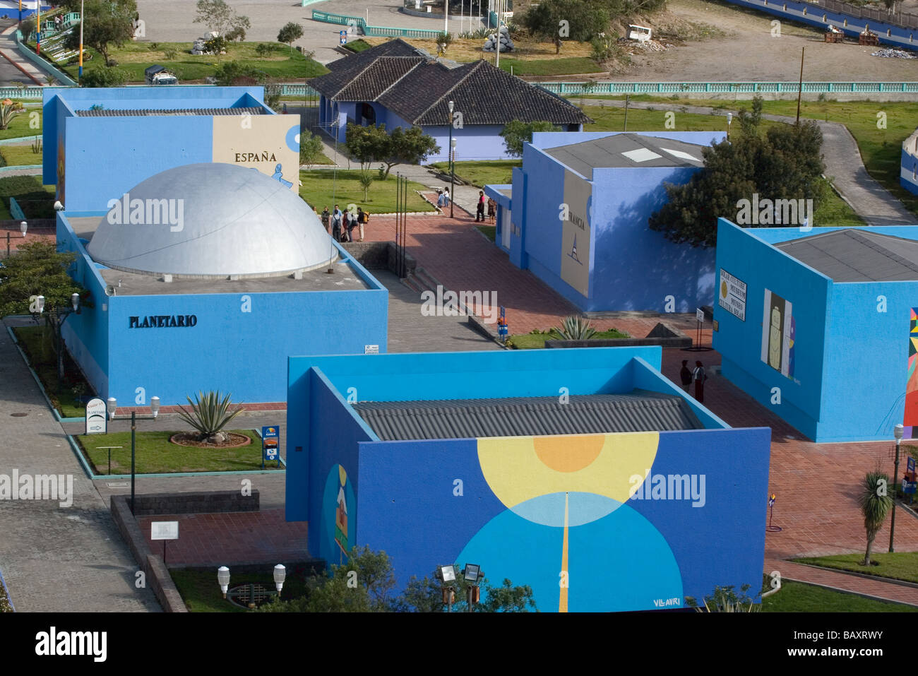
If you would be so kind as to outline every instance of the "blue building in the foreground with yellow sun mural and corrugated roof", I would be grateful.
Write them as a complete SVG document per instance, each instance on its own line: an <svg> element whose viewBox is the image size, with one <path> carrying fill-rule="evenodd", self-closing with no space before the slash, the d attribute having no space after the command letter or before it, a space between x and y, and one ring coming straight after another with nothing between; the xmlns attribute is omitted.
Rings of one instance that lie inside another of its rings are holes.
<svg viewBox="0 0 918 676"><path fill-rule="evenodd" d="M291 357L286 519L308 519L309 552L330 563L385 550L399 587L476 563L549 612L758 585L770 431L730 428L661 357Z"/></svg>

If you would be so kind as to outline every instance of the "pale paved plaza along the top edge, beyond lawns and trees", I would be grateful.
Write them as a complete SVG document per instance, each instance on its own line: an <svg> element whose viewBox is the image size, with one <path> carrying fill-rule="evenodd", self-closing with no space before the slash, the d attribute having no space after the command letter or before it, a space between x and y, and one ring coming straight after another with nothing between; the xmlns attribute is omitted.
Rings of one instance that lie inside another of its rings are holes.
<svg viewBox="0 0 918 676"><path fill-rule="evenodd" d="M316 52L316 60L322 63L341 58L334 51L338 45L340 26L312 20L312 10L333 12L351 17L364 17L373 26L396 28L428 28L442 30L443 20L427 17L411 17L398 11L400 0L334 0L302 7L294 0L234 0L230 6L238 14L249 17L252 28L246 31L246 39L276 41L277 31L288 21L303 27L303 37L294 44ZM194 23L195 3L191 0L138 0L140 18L146 21L144 39L159 42L190 42L207 30L203 24ZM451 32L459 32L459 19L450 20ZM465 18L467 30L469 20ZM352 39L359 36L353 35ZM201 57L206 59L207 57Z"/></svg>

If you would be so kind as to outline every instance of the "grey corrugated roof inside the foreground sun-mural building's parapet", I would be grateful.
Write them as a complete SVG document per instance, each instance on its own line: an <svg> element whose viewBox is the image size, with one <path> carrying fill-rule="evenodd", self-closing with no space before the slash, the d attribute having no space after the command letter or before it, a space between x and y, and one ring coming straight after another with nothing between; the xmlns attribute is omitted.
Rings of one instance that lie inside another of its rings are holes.
<svg viewBox="0 0 918 676"><path fill-rule="evenodd" d="M703 425L681 397L634 389L627 394L509 399L361 401L353 404L380 439L466 439L662 432Z"/></svg>

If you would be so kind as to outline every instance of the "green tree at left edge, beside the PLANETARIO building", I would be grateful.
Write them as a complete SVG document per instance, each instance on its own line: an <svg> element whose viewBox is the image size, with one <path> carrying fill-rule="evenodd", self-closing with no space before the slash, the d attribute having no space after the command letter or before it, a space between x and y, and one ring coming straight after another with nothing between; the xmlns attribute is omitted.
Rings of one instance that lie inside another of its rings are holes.
<svg viewBox="0 0 918 676"><path fill-rule="evenodd" d="M88 304L88 291L67 274L75 254L59 254L54 242L28 242L0 266L0 317L29 314L32 297L44 296L45 308L68 308L74 293Z"/></svg>

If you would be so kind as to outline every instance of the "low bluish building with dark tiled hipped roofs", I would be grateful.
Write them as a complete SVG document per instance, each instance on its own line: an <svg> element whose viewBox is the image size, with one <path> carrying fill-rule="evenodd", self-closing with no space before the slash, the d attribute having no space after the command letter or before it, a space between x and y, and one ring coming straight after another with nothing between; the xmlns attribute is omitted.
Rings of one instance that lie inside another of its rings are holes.
<svg viewBox="0 0 918 676"><path fill-rule="evenodd" d="M440 152L428 158L430 162L449 159L451 123L455 159L461 161L508 157L499 134L514 119L549 121L565 131L581 130L592 121L560 96L490 62L435 60L402 39L330 62L328 67L331 73L309 81L320 95L322 130L343 142L348 124L385 124L390 131L417 126L440 146Z"/></svg>

